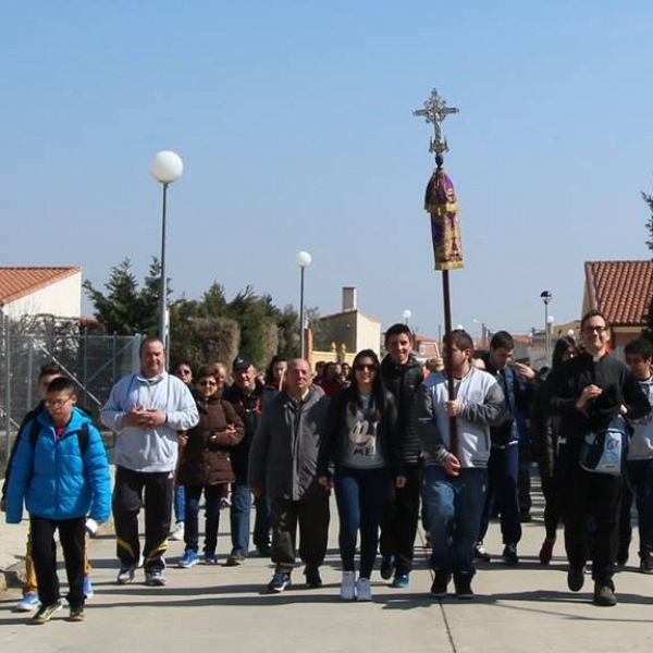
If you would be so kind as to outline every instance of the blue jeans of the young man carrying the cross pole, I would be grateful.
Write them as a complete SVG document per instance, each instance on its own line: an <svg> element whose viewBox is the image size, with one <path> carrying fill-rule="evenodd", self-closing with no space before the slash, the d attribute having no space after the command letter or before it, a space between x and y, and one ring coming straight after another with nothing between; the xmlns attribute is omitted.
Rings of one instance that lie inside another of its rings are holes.
<svg viewBox="0 0 653 653"><path fill-rule="evenodd" d="M461 469L452 477L439 465L423 471L423 502L431 529L431 567L473 574L473 545L485 503L485 469Z"/></svg>

